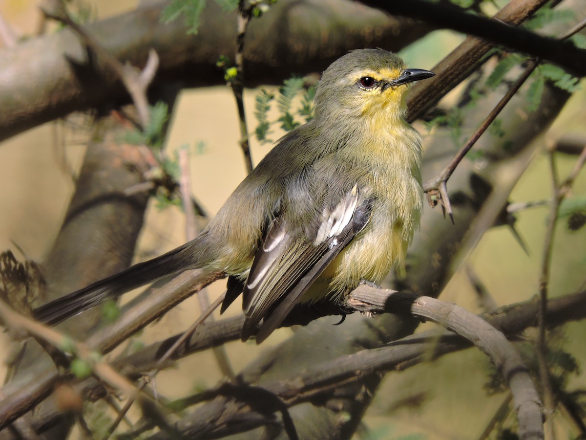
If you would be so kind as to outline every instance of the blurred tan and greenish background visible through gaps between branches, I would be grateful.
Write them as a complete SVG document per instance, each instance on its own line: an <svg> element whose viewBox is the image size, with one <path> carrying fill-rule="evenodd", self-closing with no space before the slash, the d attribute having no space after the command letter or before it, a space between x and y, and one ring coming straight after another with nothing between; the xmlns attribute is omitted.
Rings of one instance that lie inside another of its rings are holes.
<svg viewBox="0 0 586 440"><path fill-rule="evenodd" d="M130 11L137 1L87 0L86 4L93 19L99 19ZM0 15L19 38L38 32L40 13L36 0L0 0ZM432 32L404 49L401 55L409 66L431 69L463 38L450 31ZM0 66L0 69L4 68ZM256 93L257 90L247 89L244 95L251 125L255 121ZM455 102L455 96L446 97L441 105L449 108ZM540 143L538 152L515 185L510 195L511 202L547 200L551 197L549 164L544 151L567 134L586 139L585 103L586 92L582 82L581 89L571 97L553 126L536 140ZM218 121L221 121L221 129ZM83 117L48 123L0 144L0 188L3 189L0 191L1 250L12 249L22 259L45 260L74 191L72 176L79 173L86 148L85 124ZM434 133L423 123L417 123L417 127L426 141L433 136L444 136L445 144L453 143L447 134ZM464 134L469 133L471 130ZM272 139L279 137L278 131L271 136ZM165 144L169 151L183 144L194 146L190 160L192 193L210 215L217 211L246 175L238 141L237 112L229 87L200 88L181 93ZM253 139L254 163L257 164L270 148L270 143L260 144ZM574 156L557 155L558 172L562 178L574 167L575 160ZM507 170L501 172L506 180ZM510 173L514 174L514 171ZM584 197L585 194L586 172L582 172L575 182L573 197ZM431 208L426 206L425 209ZM474 313L483 310L466 275L467 268L478 276L498 306L537 295L548 212L548 205L543 205L516 214L515 226L526 244L527 253L507 226L486 232L470 251L467 261L456 270L440 299L457 303ZM445 221L440 208L435 209L434 215L438 222ZM135 261L160 255L185 241L182 211L175 207L161 211L151 206ZM552 258L551 296L578 290L586 275L586 228L570 231L565 222L560 221ZM224 285L220 281L209 287L212 299L223 292ZM131 297L125 296L123 302ZM238 304L234 304L227 313L237 314L239 309ZM197 300L192 297L155 325L147 327L136 339L142 344L161 340L188 327L199 313ZM336 317L323 319L329 319L332 323L337 320ZM432 324L422 324L418 331L430 327ZM259 351L268 350L286 339L291 331L278 330L260 347L240 341L227 344L234 370L239 371L247 365L258 356ZM564 350L573 354L580 365L586 362L585 334L586 324L577 322L564 326L557 336ZM5 372L10 353L13 353L11 345L8 336L0 334L0 353L4 353L0 374ZM488 358L478 350L469 349L432 361L431 365L423 363L404 372L387 374L364 418L366 426L372 428L371 438L480 438L483 428L505 398L503 394L486 395L485 384L490 370ZM186 384L193 390L202 390L212 387L222 378L212 354L207 351L186 358L176 368L163 371L158 375L157 386L165 390L166 397L179 398L186 394ZM568 390L585 388L583 374L568 376ZM578 438L577 428L567 420L558 418L557 429L558 438Z"/></svg>

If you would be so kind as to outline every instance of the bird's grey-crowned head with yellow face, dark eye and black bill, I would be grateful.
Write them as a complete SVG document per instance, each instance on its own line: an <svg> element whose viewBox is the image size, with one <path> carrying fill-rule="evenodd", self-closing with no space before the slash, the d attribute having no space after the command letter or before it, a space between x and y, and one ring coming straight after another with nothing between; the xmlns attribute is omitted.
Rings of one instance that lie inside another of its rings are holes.
<svg viewBox="0 0 586 440"><path fill-rule="evenodd" d="M326 123L401 118L408 85L434 75L429 70L407 69L400 57L387 50L353 50L323 72L315 117Z"/></svg>

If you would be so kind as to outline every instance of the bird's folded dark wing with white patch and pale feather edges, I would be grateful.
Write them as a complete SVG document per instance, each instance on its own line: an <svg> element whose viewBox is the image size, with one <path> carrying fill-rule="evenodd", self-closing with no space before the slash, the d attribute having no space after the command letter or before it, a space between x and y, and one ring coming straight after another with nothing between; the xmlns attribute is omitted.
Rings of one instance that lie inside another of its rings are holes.
<svg viewBox="0 0 586 440"><path fill-rule="evenodd" d="M260 343L276 329L302 295L329 263L352 241L370 215L370 201L358 205L359 194L353 188L332 212L319 219L317 238L292 232L286 216L271 224L257 251L246 285L242 339L247 340L265 318Z"/></svg>

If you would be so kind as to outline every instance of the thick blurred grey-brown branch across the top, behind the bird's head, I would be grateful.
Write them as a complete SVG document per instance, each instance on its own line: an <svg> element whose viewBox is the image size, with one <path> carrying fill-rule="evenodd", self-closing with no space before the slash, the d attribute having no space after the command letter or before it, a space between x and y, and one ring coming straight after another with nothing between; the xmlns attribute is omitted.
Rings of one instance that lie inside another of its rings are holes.
<svg viewBox="0 0 586 440"><path fill-rule="evenodd" d="M133 66L144 66L149 50L155 50L159 70L151 90L171 79L186 87L224 84L216 61L235 52L236 26L225 23L235 23L236 12L227 14L209 2L199 33L191 35L182 20L161 23L166 4L150 4L84 29L111 56ZM315 20L308 21L308 14ZM322 39L326 29L328 38ZM283 0L248 29L245 85L281 83L292 72L321 72L350 49L396 51L429 31L430 26L349 0ZM0 50L0 65L10 66L0 71L0 141L72 111L128 101L110 67L69 29Z"/></svg>

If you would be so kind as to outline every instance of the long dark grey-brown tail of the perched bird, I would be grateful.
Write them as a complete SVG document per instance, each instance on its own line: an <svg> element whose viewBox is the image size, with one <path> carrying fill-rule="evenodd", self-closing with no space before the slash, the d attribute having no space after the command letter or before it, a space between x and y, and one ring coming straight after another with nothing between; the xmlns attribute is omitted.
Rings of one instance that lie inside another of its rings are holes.
<svg viewBox="0 0 586 440"><path fill-rule="evenodd" d="M45 324L54 326L71 316L97 306L108 298L116 298L163 276L173 275L185 269L202 267L203 264L196 261L198 254L201 255L200 251L203 251L200 249L201 240L198 238L152 260L138 263L40 306L33 310L33 316Z"/></svg>

